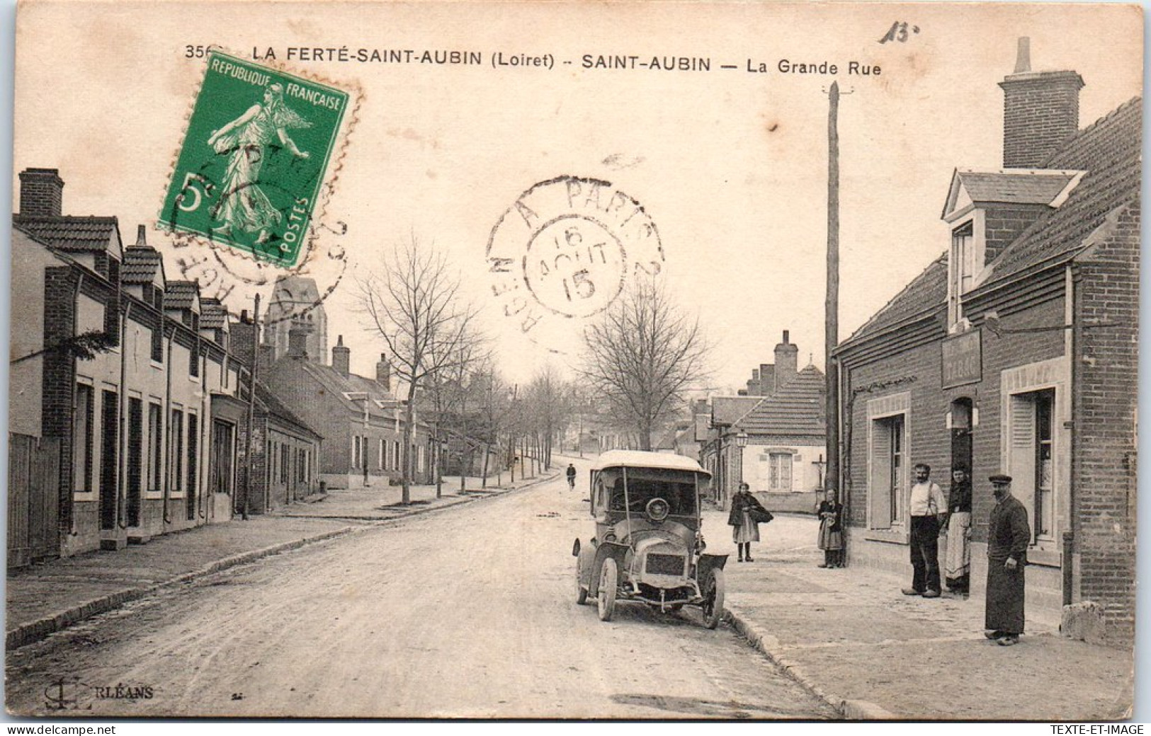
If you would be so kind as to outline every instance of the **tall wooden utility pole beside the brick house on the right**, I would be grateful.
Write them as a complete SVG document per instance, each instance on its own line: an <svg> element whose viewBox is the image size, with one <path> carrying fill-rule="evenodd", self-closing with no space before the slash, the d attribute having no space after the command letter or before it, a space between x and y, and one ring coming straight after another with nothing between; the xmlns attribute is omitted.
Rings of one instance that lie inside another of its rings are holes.
<svg viewBox="0 0 1151 736"><path fill-rule="evenodd" d="M824 320L828 474L824 486L836 489L839 501L844 503L839 483L839 368L831 355L839 343L839 83L831 83L828 98L828 298Z"/></svg>

